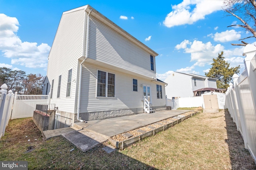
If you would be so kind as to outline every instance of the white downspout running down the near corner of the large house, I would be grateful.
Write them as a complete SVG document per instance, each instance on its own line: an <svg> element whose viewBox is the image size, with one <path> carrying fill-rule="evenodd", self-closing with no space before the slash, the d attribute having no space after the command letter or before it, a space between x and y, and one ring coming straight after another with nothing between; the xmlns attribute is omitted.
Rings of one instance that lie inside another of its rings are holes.
<svg viewBox="0 0 256 170"><path fill-rule="evenodd" d="M80 96L81 96L81 84L82 84L82 64L84 63L84 61L87 59L88 57L88 35L89 35L89 15L92 12L92 9L90 10L88 16L87 16L87 33L86 33L86 54L85 54L85 59L82 61L82 63L80 64L80 78L79 78L79 92L78 92L78 110L77 110L77 120L83 123L86 123L85 120L82 120L79 118L79 114L80 114ZM83 50L83 56L84 56L84 50Z"/></svg>

